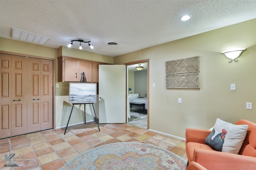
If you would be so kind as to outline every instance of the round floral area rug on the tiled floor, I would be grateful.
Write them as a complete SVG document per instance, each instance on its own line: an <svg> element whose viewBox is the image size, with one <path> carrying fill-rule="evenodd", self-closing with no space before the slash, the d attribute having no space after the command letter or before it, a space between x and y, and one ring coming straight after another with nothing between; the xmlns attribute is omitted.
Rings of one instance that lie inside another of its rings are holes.
<svg viewBox="0 0 256 170"><path fill-rule="evenodd" d="M88 150L61 170L186 170L186 162L153 145L122 142Z"/></svg>

